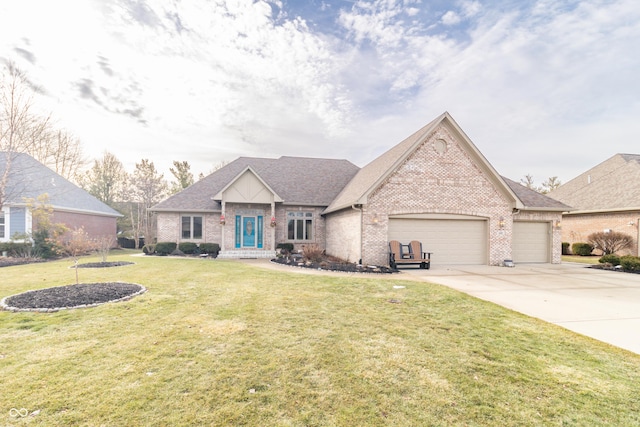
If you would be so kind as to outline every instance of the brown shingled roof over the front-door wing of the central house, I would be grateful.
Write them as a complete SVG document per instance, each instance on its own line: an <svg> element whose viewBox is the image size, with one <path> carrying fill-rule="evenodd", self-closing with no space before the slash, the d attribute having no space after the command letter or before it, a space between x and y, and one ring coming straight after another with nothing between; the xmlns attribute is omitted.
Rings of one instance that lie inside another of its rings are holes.
<svg viewBox="0 0 640 427"><path fill-rule="evenodd" d="M195 184L155 205L154 211L219 211L214 196L247 168L286 205L328 206L358 172L348 160L287 157L240 157Z"/></svg>

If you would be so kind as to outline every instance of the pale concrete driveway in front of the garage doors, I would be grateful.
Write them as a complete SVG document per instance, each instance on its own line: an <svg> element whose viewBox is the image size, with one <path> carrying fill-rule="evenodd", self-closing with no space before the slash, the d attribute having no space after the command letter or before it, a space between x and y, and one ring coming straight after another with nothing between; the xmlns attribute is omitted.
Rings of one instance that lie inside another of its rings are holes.
<svg viewBox="0 0 640 427"><path fill-rule="evenodd" d="M402 272L640 354L640 274L574 263Z"/></svg>

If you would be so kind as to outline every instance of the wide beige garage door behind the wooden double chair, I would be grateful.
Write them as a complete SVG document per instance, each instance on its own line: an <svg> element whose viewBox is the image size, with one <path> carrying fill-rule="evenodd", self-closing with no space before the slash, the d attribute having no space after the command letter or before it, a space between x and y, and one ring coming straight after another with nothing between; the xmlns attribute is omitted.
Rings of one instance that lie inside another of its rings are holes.
<svg viewBox="0 0 640 427"><path fill-rule="evenodd" d="M485 220L407 219L389 220L389 240L422 242L433 252L432 265L487 264Z"/></svg>

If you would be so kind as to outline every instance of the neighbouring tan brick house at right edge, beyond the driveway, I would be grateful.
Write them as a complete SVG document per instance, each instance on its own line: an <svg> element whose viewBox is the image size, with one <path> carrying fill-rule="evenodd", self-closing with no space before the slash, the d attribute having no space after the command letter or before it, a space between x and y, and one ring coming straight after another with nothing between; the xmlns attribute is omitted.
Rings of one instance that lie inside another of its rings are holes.
<svg viewBox="0 0 640 427"><path fill-rule="evenodd" d="M548 194L575 210L562 219L562 241L586 242L597 231L619 231L633 237L621 254L640 255L640 155L616 154Z"/></svg>

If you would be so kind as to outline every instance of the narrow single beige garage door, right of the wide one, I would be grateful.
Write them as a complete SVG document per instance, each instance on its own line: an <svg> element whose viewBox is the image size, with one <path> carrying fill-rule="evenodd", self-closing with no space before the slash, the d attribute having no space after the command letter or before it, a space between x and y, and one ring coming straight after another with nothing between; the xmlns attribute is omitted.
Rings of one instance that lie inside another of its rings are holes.
<svg viewBox="0 0 640 427"><path fill-rule="evenodd" d="M513 223L513 262L549 262L549 223Z"/></svg>

